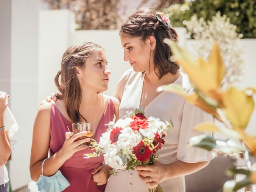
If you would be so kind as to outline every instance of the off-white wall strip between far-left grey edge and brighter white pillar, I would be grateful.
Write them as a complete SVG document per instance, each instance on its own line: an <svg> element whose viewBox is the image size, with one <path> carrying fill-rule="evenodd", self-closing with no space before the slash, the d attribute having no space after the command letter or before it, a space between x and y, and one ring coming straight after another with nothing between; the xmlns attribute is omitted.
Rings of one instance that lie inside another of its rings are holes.
<svg viewBox="0 0 256 192"><path fill-rule="evenodd" d="M30 181L32 128L38 108L39 0L12 0L11 110L20 127L10 162L12 188Z"/></svg>

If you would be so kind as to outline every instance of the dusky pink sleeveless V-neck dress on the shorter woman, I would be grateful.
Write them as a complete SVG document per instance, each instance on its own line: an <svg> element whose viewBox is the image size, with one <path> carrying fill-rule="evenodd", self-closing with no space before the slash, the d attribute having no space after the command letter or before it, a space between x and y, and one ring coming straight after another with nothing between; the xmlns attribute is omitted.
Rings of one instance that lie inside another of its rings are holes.
<svg viewBox="0 0 256 192"><path fill-rule="evenodd" d="M105 112L100 120L98 128L94 128L94 139L99 142L100 136L106 131L108 122L112 121L115 114L115 106L111 99L108 100ZM51 104L50 116L50 156L62 148L65 141L65 133L68 128L72 130L70 122L60 113L56 106ZM92 172L104 163L104 157L83 158L84 154L92 153L90 148L78 151L66 160L60 167L61 173L70 182L70 186L64 192L104 192L106 185L97 186L93 181Z"/></svg>

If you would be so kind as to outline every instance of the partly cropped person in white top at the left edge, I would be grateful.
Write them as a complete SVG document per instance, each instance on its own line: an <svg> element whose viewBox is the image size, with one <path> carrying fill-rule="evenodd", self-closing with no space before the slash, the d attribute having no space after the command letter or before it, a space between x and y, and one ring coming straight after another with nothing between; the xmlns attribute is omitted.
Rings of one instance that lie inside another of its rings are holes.
<svg viewBox="0 0 256 192"><path fill-rule="evenodd" d="M6 162L11 154L10 138L18 131L18 125L8 108L9 95L0 92L0 192L8 192Z"/></svg>

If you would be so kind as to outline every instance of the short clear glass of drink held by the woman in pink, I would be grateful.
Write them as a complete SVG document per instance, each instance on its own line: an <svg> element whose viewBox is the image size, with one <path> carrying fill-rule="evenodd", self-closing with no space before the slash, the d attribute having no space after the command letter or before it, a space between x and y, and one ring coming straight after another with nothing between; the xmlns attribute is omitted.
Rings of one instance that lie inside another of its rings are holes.
<svg viewBox="0 0 256 192"><path fill-rule="evenodd" d="M77 138L75 141L85 139L85 138L93 138L93 123L92 122L72 123L72 131L74 132L74 134L82 131L87 131L86 135ZM92 142L91 140L89 142L84 142L83 144L80 144L78 147L90 146L91 142Z"/></svg>

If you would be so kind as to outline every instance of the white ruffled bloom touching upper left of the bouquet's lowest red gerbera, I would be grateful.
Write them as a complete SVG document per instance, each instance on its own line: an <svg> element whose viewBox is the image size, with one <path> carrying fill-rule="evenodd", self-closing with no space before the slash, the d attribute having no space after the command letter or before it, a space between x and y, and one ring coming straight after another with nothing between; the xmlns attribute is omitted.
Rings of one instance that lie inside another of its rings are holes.
<svg viewBox="0 0 256 192"><path fill-rule="evenodd" d="M137 130L132 130L132 128L127 127L121 130L121 134L118 136L118 141L116 146L118 150L126 149L128 153L132 153L132 149L138 145L142 140L140 132Z"/></svg>

